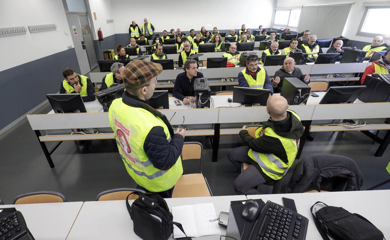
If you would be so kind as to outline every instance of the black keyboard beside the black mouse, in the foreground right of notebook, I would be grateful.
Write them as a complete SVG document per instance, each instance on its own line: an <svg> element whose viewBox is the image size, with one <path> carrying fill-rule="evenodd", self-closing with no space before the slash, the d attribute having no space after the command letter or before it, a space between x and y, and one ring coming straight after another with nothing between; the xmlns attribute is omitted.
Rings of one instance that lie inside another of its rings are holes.
<svg viewBox="0 0 390 240"><path fill-rule="evenodd" d="M309 220L268 201L257 218L249 240L305 240Z"/></svg>

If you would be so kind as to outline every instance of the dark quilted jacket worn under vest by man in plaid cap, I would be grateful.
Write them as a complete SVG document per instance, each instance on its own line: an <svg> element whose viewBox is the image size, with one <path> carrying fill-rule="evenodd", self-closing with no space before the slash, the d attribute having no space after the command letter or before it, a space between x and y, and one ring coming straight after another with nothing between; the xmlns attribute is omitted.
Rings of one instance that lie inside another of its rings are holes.
<svg viewBox="0 0 390 240"><path fill-rule="evenodd" d="M122 102L131 107L140 107L149 112L156 111L154 109L146 109L143 103L147 103L140 100L136 96L130 95L127 91L122 95ZM155 112L152 112L154 115ZM175 165L177 159L183 149L184 138L180 134L174 134L172 126L168 123L167 117L161 118L168 127L171 135L171 140L168 142L167 135L164 132L163 127L153 127L145 138L144 151L147 157L151 160L153 166L160 170L168 170Z"/></svg>

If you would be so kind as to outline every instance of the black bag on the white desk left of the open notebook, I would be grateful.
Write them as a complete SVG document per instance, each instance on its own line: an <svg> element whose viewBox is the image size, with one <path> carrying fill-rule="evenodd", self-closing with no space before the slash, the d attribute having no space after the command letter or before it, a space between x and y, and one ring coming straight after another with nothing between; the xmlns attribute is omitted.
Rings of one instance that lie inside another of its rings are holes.
<svg viewBox="0 0 390 240"><path fill-rule="evenodd" d="M167 202L160 195L155 193L138 194L138 198L134 200L130 207L128 200L131 194L138 193L130 193L127 196L126 207L134 223L134 232L140 238L144 240L167 240L173 232L173 224L184 233L181 224L172 221L173 216L169 212ZM191 240L189 237L187 239Z"/></svg>

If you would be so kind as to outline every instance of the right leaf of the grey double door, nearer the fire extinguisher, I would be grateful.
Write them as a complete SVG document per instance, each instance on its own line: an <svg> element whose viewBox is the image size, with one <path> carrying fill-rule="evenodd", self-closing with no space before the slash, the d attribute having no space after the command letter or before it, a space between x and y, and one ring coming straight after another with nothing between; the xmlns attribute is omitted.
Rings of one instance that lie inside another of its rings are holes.
<svg viewBox="0 0 390 240"><path fill-rule="evenodd" d="M88 17L79 15L78 19L80 20L81 30L83 33L85 50L87 50L89 67L91 69L93 69L93 68L97 67L97 58L96 58L96 53L95 53L95 49L94 49L92 32L90 30L90 26L89 26L89 22L88 22Z"/></svg>

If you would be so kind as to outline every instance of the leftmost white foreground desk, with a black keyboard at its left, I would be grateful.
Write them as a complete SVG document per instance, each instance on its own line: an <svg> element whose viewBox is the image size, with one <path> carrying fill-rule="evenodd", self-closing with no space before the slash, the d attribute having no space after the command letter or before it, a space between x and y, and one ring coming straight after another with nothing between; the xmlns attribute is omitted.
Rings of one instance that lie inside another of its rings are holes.
<svg viewBox="0 0 390 240"><path fill-rule="evenodd" d="M64 240L83 202L0 205L14 207L23 214L27 228L37 240Z"/></svg>

